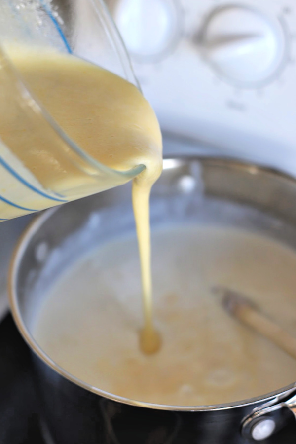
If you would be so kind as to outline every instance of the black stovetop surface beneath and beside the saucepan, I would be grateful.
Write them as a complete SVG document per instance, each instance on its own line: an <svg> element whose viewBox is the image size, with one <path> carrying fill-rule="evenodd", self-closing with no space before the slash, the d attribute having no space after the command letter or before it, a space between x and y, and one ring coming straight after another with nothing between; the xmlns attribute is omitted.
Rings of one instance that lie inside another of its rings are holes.
<svg viewBox="0 0 296 444"><path fill-rule="evenodd" d="M0 444L45 444L38 410L29 348L8 315L0 323ZM284 430L261 443L294 443L295 433L291 420Z"/></svg>

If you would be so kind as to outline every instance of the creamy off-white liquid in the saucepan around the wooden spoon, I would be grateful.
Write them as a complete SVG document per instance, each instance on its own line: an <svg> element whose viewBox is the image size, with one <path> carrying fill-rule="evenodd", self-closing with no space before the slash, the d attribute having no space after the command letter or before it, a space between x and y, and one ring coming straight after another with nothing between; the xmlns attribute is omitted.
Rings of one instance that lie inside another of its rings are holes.
<svg viewBox="0 0 296 444"><path fill-rule="evenodd" d="M296 360L225 313L214 284L242 291L296 335L296 254L224 228L167 228L152 236L155 324L162 347L145 355L135 237L79 259L37 314L42 349L77 378L116 395L170 405L258 396L296 380Z"/></svg>

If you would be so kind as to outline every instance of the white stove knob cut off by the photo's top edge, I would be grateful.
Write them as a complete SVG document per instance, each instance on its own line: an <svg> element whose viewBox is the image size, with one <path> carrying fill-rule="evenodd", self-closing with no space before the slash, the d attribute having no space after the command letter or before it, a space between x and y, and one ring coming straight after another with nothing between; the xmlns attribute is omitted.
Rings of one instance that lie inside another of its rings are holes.
<svg viewBox="0 0 296 444"><path fill-rule="evenodd" d="M115 23L132 56L142 61L162 58L179 37L175 0L119 0Z"/></svg>

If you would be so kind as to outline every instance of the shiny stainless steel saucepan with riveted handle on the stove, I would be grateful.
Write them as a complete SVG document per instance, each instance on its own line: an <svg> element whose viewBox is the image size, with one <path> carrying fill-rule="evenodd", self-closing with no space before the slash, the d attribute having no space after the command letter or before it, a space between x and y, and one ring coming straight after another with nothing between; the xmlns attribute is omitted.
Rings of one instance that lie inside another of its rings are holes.
<svg viewBox="0 0 296 444"><path fill-rule="evenodd" d="M294 381L273 393L232 404L154 405L91 387L59 367L38 346L32 323L54 280L94 245L134 230L128 187L124 185L41 214L23 234L12 260L11 310L34 352L37 390L52 441L279 442L274 441L276 434L282 433L279 431L296 416ZM279 172L233 160L165 159L163 174L151 196L152 230L165 221L246 228L296 249L296 181Z"/></svg>

